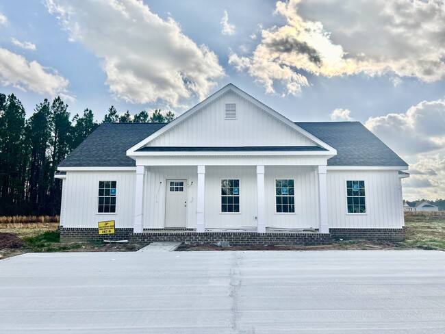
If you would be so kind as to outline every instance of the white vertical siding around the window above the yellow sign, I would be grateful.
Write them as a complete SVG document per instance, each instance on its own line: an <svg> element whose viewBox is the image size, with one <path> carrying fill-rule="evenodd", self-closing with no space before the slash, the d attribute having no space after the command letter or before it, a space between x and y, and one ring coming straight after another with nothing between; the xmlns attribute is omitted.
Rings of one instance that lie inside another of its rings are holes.
<svg viewBox="0 0 445 334"><path fill-rule="evenodd" d="M99 181L116 181L116 214L98 214ZM66 172L64 227L94 227L115 220L116 228L133 227L136 172Z"/></svg>

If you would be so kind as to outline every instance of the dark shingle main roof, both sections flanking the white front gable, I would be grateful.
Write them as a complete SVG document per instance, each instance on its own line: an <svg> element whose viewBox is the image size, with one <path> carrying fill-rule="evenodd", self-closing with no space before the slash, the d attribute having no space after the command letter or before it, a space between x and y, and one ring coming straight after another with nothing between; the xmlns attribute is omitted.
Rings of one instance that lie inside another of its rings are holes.
<svg viewBox="0 0 445 334"><path fill-rule="evenodd" d="M295 123L334 149L328 166L407 166L359 122ZM106 123L99 126L59 167L129 167L135 161L125 155L164 127L164 123Z"/></svg>

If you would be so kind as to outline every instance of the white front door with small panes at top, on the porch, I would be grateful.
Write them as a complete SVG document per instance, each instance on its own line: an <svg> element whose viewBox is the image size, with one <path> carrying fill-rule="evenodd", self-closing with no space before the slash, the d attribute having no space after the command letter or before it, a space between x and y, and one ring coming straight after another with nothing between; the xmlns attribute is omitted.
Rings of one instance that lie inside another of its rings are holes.
<svg viewBox="0 0 445 334"><path fill-rule="evenodd" d="M187 226L187 180L166 181L165 227Z"/></svg>

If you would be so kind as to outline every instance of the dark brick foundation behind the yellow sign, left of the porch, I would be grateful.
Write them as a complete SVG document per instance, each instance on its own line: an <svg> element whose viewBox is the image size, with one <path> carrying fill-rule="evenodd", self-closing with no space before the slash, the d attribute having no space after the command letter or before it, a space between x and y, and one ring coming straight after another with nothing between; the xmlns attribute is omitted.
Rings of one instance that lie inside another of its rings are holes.
<svg viewBox="0 0 445 334"><path fill-rule="evenodd" d="M99 229L86 227L60 227L60 241L103 241L103 240L129 240L133 229L116 229L114 234L101 234Z"/></svg>

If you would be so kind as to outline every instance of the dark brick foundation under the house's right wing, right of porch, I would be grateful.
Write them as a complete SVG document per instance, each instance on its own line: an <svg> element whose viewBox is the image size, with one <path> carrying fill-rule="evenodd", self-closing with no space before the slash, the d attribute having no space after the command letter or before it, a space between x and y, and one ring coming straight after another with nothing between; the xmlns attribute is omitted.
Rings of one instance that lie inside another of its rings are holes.
<svg viewBox="0 0 445 334"><path fill-rule="evenodd" d="M405 240L405 229L329 229L333 239Z"/></svg>

